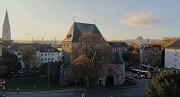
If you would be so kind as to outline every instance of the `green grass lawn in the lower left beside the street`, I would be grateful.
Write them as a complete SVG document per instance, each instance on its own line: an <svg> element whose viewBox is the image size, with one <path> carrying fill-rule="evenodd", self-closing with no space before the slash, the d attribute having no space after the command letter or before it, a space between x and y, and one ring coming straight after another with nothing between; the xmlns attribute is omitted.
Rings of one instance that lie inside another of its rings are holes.
<svg viewBox="0 0 180 97"><path fill-rule="evenodd" d="M19 77L19 78L7 78L6 79L6 91L16 91L17 88L20 91L34 91L34 85L36 85L37 91L48 90L48 80L45 77ZM60 89L60 85L57 81L50 80L50 90Z"/></svg>

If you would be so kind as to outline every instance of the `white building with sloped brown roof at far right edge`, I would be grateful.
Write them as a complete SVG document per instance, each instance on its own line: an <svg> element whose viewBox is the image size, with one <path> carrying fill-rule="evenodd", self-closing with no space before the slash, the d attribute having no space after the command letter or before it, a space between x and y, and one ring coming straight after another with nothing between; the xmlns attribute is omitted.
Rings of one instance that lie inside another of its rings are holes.
<svg viewBox="0 0 180 97"><path fill-rule="evenodd" d="M165 48L165 67L180 69L180 40Z"/></svg>

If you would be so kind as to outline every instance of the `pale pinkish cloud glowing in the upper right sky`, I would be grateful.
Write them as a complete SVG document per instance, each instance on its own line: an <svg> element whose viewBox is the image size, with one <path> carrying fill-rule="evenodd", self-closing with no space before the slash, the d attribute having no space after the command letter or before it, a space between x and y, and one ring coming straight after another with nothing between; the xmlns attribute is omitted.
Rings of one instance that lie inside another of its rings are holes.
<svg viewBox="0 0 180 97"><path fill-rule="evenodd" d="M151 12L139 12L128 14L128 17L120 20L120 23L128 26L150 28L162 24L162 21Z"/></svg>

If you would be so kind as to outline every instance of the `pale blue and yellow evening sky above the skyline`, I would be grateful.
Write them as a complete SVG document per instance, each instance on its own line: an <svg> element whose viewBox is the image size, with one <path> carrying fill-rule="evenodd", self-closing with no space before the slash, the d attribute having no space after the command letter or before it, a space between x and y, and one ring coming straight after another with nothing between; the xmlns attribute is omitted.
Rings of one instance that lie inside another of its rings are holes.
<svg viewBox="0 0 180 97"><path fill-rule="evenodd" d="M180 37L180 0L0 0L15 40L63 40L75 22L95 23L107 40ZM73 18L74 17L74 18Z"/></svg>

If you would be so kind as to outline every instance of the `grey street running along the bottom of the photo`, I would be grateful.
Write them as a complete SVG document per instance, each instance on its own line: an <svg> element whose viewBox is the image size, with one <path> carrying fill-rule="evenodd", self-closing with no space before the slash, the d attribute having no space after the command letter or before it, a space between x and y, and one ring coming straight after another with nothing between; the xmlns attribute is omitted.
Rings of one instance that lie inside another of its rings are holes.
<svg viewBox="0 0 180 97"><path fill-rule="evenodd" d="M7 97L147 97L146 94L146 83L147 79L136 79L137 85L128 86L119 89L98 89L88 91L56 91L56 92L28 92L28 93L9 93L6 92L4 95Z"/></svg>

